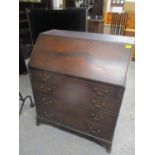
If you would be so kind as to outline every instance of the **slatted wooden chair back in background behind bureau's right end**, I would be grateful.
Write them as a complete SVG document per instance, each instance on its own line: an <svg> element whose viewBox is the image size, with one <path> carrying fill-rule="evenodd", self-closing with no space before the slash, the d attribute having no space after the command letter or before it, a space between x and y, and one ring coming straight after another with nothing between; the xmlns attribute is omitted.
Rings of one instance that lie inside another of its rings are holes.
<svg viewBox="0 0 155 155"><path fill-rule="evenodd" d="M110 34L125 35L128 13L112 13Z"/></svg>

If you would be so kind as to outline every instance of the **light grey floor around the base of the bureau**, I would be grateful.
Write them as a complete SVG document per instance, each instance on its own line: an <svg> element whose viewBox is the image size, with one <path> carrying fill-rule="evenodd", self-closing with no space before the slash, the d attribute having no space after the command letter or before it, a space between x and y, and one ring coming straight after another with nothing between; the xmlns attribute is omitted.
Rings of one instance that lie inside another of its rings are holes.
<svg viewBox="0 0 155 155"><path fill-rule="evenodd" d="M28 75L20 76L20 92L32 95ZM135 63L129 65L127 88L113 139L110 155L134 155ZM36 126L35 108L26 103L19 117L20 155L108 155L105 148L60 129Z"/></svg>

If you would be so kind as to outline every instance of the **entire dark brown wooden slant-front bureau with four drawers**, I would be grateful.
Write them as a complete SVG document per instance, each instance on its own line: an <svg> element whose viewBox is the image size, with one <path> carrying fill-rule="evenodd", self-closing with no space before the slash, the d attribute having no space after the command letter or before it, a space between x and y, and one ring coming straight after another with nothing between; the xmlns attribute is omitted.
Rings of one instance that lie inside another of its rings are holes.
<svg viewBox="0 0 155 155"><path fill-rule="evenodd" d="M34 46L29 73L37 124L111 150L134 38L51 30Z"/></svg>

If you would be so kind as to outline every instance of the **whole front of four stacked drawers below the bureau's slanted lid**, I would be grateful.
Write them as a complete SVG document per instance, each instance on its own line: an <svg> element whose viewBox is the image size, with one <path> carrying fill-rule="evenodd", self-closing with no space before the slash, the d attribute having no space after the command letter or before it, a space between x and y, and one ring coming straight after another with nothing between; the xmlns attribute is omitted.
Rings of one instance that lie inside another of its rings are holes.
<svg viewBox="0 0 155 155"><path fill-rule="evenodd" d="M30 74L38 116L112 139L122 89L43 71Z"/></svg>

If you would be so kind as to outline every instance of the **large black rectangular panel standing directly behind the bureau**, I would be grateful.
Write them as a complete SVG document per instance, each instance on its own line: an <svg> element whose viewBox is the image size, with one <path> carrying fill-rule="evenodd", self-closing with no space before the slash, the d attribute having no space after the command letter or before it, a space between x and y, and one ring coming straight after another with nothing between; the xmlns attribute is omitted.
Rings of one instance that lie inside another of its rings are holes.
<svg viewBox="0 0 155 155"><path fill-rule="evenodd" d="M33 9L28 13L32 40L35 43L41 32L60 29L86 31L86 10L81 8L45 10Z"/></svg>

